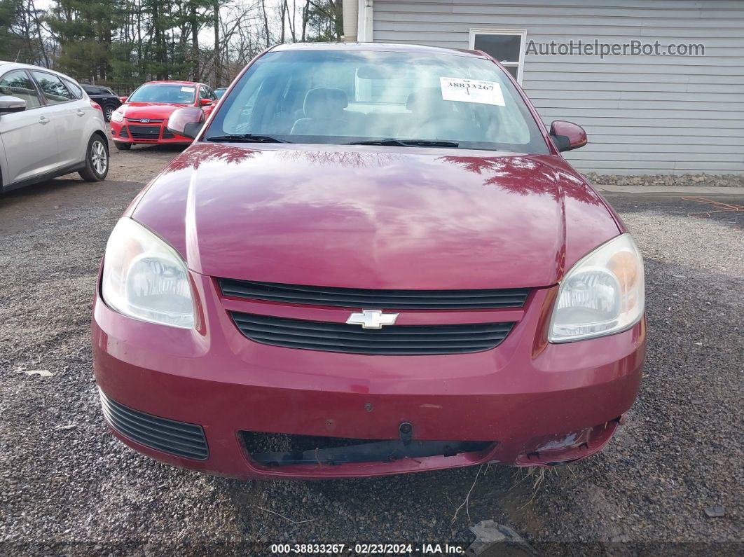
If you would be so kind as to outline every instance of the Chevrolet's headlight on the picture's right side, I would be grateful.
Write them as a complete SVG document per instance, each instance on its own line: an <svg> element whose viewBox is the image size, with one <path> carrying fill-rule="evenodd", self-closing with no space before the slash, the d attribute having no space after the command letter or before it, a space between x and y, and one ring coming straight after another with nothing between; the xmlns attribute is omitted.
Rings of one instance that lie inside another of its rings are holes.
<svg viewBox="0 0 744 557"><path fill-rule="evenodd" d="M629 329L644 315L644 294L644 261L630 234L622 234L565 275L548 339L570 342Z"/></svg>

